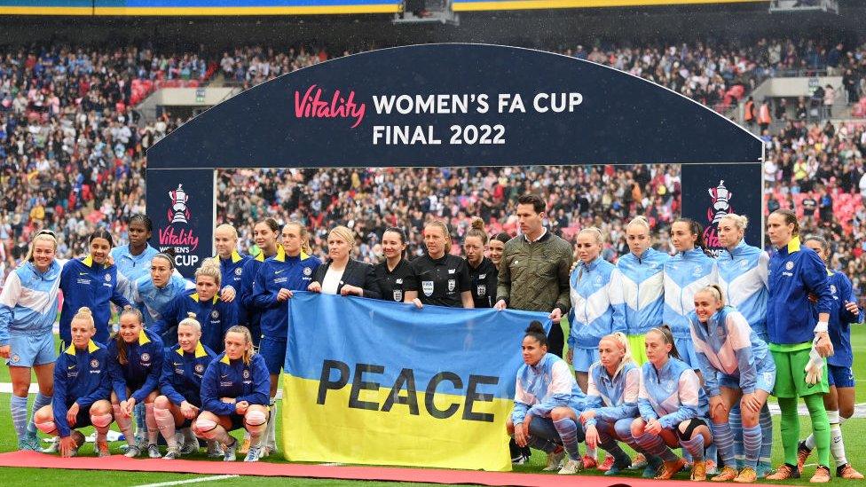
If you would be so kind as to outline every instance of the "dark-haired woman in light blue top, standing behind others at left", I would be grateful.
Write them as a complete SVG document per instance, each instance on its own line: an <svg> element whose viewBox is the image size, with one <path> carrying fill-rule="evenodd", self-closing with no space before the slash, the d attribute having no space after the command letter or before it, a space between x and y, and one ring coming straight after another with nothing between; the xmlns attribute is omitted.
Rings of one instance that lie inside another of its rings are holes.
<svg viewBox="0 0 866 487"><path fill-rule="evenodd" d="M147 276L150 271L150 261L158 254L147 240L154 232L154 223L149 216L136 213L127 221L126 232L130 243L111 249L111 258L117 266L120 291L129 301L132 301L132 285L138 279Z"/></svg>

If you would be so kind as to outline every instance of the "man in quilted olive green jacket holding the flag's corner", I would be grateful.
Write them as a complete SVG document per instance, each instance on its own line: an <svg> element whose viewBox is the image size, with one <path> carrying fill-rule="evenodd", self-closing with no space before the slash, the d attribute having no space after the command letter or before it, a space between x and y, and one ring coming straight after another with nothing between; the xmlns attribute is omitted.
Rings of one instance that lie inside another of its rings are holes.
<svg viewBox="0 0 866 487"><path fill-rule="evenodd" d="M565 337L559 321L571 309L569 273L571 244L547 232L544 200L537 194L517 199L517 219L523 235L508 240L496 287L497 310L544 311L554 326L547 334L547 351L563 356Z"/></svg>

